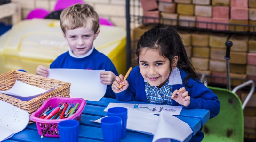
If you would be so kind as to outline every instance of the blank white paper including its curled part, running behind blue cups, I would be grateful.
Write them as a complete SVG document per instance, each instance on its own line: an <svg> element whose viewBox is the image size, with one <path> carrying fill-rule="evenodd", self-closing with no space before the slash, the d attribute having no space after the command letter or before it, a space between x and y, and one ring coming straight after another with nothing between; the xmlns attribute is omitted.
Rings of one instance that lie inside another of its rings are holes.
<svg viewBox="0 0 256 142"><path fill-rule="evenodd" d="M157 116L129 107L126 108L128 109L126 128L154 135L152 142L170 142L170 139L184 141L193 132L187 123L168 112L161 111L160 116ZM101 119L93 122L100 123Z"/></svg>

